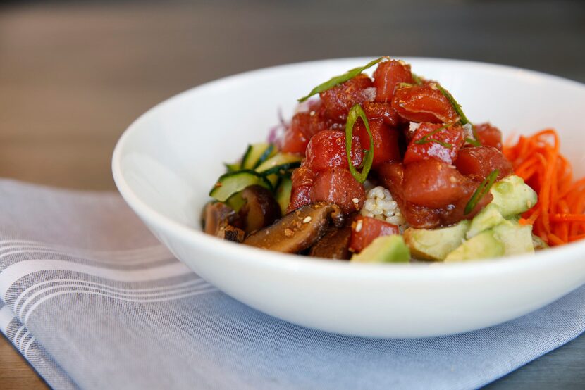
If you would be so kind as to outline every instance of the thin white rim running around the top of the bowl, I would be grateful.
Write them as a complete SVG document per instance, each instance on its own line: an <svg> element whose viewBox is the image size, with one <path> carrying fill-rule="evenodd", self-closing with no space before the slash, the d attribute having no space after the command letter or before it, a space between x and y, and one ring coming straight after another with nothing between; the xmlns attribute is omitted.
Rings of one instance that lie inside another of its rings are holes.
<svg viewBox="0 0 585 390"><path fill-rule="evenodd" d="M258 249L252 246L245 246L236 244L230 241L218 239L217 237L205 234L202 231L193 229L192 227L183 223L177 222L172 218L167 217L156 209L149 206L146 202L140 199L140 196L135 194L133 189L126 182L123 175L122 160L126 143L130 137L136 132L140 132L142 122L147 121L150 115L154 115L156 111L166 105L173 104L174 101L183 99L187 94L204 93L207 89L214 89L220 87L222 84L228 84L240 77L253 77L261 73L280 72L288 68L307 67L312 65L326 65L327 63L337 64L341 62L351 61L370 61L372 57L350 57L350 58L331 58L326 60L316 61L302 61L298 63L288 63L285 65L275 65L257 70L250 70L247 72L221 77L217 80L212 80L192 87L180 92L170 98L161 101L148 111L142 113L135 119L123 132L120 139L116 143L112 155L112 173L113 180L116 183L118 191L120 191L123 199L128 203L135 213L140 217L149 221L150 225L155 227L162 227L171 235L180 237L185 241L190 241L195 246L207 247L210 251L223 252L225 256L230 258L238 258L239 261L247 262L250 265L261 266L262 268L270 268L272 270L280 271L294 271L311 273L316 275L326 275L331 277L335 275L341 278L350 279L404 279L406 281L412 279L443 279L443 278L459 278L469 277L472 275L503 275L514 270L522 270L529 268L530 270L541 270L550 268L551 266L560 265L562 263L570 263L579 255L585 253L585 240L575 241L573 243L557 246L546 249L544 251L537 251L536 253L528 253L515 256L507 256L502 258L486 258L472 260L469 262L457 263L351 263L349 261L335 261L325 258L312 258L309 256L298 256L288 253L280 253L276 251L267 251L265 249ZM481 67L485 70L506 73L523 73L529 77L538 77L553 80L554 82L562 82L563 84L585 89L585 84L569 80L564 77L550 75L535 70L527 70L517 68L509 65L499 65L494 63L484 63L479 61L467 61L450 58L429 58L429 57L393 57L402 58L409 61L423 61L429 63L441 63L448 65L449 63L456 65L464 65L467 67ZM213 247L213 249L211 248ZM555 258L555 261L550 259Z"/></svg>

